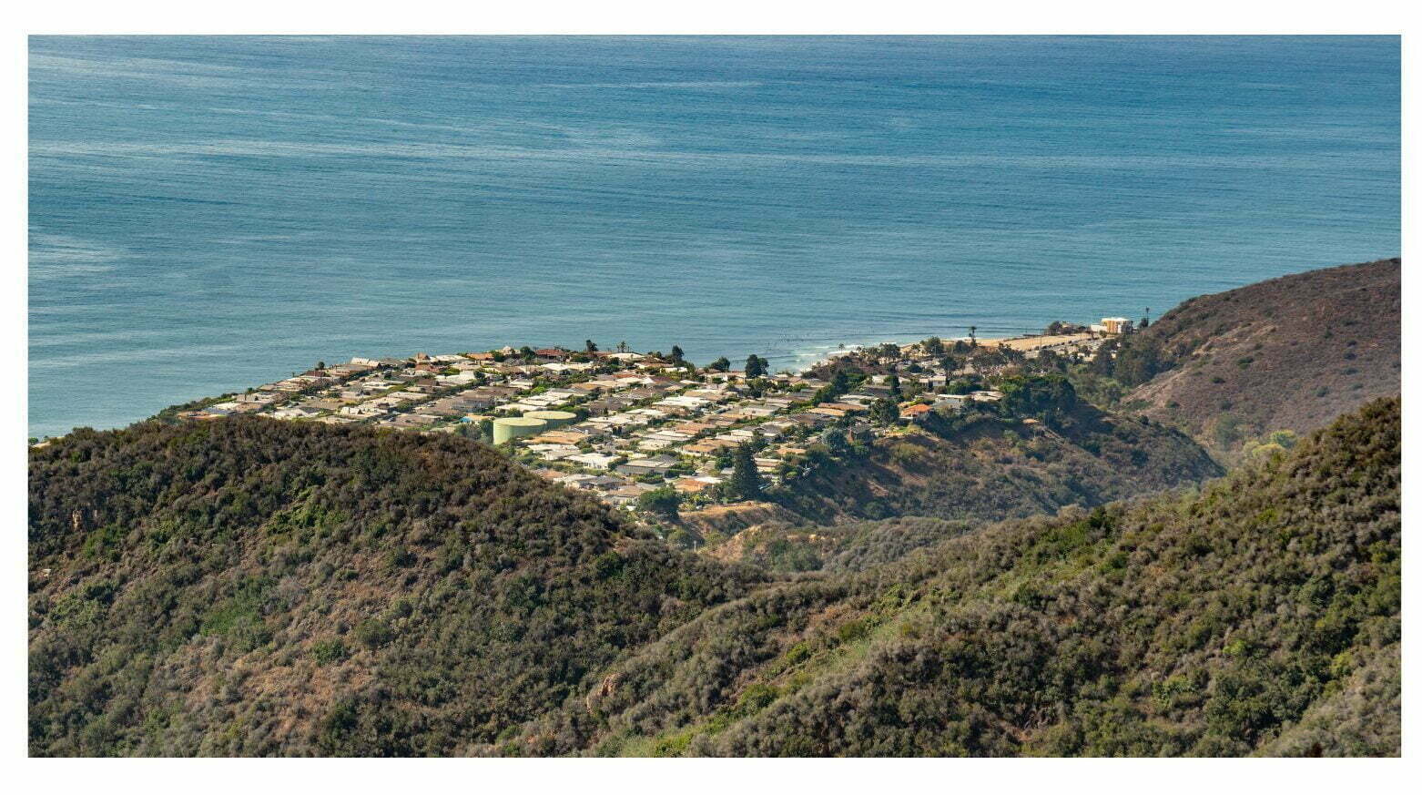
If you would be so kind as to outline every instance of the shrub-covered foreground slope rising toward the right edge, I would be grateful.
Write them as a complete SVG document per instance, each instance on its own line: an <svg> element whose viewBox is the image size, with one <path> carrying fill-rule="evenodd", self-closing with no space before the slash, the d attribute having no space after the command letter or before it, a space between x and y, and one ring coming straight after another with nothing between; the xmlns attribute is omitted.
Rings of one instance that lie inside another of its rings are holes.
<svg viewBox="0 0 1422 795"><path fill-rule="evenodd" d="M1399 445L1376 401L1199 493L762 589L525 731L596 754L1395 755Z"/></svg>

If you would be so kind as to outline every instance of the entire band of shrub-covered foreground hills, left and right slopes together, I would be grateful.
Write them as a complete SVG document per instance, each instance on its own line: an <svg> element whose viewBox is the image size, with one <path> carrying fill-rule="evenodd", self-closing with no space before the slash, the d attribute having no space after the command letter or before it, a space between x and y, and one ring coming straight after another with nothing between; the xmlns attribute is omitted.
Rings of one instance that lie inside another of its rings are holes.
<svg viewBox="0 0 1422 795"><path fill-rule="evenodd" d="M77 432L30 458L30 751L1396 754L1399 425L747 563L458 438Z"/></svg>

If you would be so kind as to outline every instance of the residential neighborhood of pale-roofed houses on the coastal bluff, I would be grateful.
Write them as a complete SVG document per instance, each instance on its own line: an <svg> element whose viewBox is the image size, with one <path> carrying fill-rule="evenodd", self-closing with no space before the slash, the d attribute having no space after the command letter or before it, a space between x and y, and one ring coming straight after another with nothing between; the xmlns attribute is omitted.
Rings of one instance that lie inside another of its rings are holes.
<svg viewBox="0 0 1422 795"><path fill-rule="evenodd" d="M799 374L769 373L757 356L741 370L725 358L698 368L675 347L600 351L590 341L583 350L354 357L201 401L179 418L253 414L459 434L616 506L638 509L643 495L670 489L677 503L695 508L775 486L832 431L867 444L936 411L994 404L1003 393L991 378L1014 363L1086 356L1109 334L1072 327L1010 340L886 343L835 351ZM832 375L848 363L856 378ZM752 486L728 482L738 457L739 478Z"/></svg>

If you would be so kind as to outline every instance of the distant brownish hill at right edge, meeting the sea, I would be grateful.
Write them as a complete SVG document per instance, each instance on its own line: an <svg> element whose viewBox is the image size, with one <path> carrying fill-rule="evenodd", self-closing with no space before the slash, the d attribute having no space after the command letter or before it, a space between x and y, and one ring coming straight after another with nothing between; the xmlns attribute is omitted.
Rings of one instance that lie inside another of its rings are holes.
<svg viewBox="0 0 1422 795"><path fill-rule="evenodd" d="M1402 260L1347 265L1190 299L1116 353L1123 402L1227 454L1398 394Z"/></svg>

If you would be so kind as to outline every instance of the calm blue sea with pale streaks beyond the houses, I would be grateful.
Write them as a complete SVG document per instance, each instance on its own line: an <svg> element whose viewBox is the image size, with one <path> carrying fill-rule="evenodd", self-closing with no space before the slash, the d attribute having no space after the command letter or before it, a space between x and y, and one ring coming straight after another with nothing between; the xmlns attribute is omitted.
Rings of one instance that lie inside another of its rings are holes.
<svg viewBox="0 0 1422 795"><path fill-rule="evenodd" d="M30 40L30 432L350 356L839 344L1395 256L1399 40Z"/></svg>

